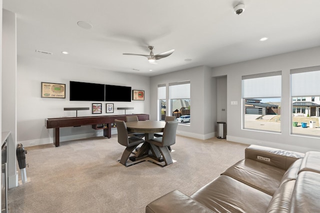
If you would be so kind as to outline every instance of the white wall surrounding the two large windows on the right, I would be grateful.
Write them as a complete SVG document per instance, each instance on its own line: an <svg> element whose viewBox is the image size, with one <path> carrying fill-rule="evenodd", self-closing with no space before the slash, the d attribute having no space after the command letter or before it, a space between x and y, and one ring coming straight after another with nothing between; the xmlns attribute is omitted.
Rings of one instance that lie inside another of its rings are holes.
<svg viewBox="0 0 320 213"><path fill-rule="evenodd" d="M298 152L320 151L319 138L290 135L290 69L318 66L319 55L320 47L314 47L212 68L213 77L227 75L227 140ZM273 71L282 71L281 133L242 129L241 76ZM231 105L231 101L237 101L237 105Z"/></svg>

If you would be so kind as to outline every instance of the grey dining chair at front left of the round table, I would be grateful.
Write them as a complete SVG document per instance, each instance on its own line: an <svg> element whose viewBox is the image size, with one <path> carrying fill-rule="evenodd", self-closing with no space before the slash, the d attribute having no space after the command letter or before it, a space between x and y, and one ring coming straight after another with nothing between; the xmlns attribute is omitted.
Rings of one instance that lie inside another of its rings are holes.
<svg viewBox="0 0 320 213"><path fill-rule="evenodd" d="M127 160L129 159L132 151L141 143L145 141L138 137L128 137L128 131L124 121L114 119L116 129L118 132L118 143L125 146L125 150L122 153L120 164L127 166Z"/></svg>

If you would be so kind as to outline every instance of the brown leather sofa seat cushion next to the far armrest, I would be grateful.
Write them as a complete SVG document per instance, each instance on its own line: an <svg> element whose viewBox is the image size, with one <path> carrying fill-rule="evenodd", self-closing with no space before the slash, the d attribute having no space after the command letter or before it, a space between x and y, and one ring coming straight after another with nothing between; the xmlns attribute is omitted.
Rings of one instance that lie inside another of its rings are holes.
<svg viewBox="0 0 320 213"><path fill-rule="evenodd" d="M279 187L285 170L263 164L251 159L243 159L226 169L227 175L270 196Z"/></svg>

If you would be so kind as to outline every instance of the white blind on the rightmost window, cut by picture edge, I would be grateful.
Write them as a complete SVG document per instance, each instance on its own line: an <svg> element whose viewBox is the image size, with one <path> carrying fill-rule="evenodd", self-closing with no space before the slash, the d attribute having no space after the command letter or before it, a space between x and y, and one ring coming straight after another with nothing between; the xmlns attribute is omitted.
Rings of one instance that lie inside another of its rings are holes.
<svg viewBox="0 0 320 213"><path fill-rule="evenodd" d="M307 68L290 70L291 96L320 95L320 67L316 68L317 71L309 71Z"/></svg>

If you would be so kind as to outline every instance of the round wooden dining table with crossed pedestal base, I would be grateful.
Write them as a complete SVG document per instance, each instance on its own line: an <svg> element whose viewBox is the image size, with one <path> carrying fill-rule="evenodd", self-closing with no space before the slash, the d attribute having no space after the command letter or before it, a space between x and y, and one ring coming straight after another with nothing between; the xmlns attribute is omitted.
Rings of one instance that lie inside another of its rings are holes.
<svg viewBox="0 0 320 213"><path fill-rule="evenodd" d="M148 140L153 139L155 132L163 132L165 122L164 121L132 121L126 122L126 129L128 132L144 133L144 142L136 154L130 157L131 161L140 160L142 158L150 157L156 161L163 161L161 154L153 144L147 143Z"/></svg>

